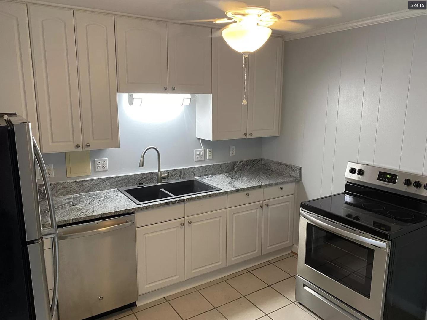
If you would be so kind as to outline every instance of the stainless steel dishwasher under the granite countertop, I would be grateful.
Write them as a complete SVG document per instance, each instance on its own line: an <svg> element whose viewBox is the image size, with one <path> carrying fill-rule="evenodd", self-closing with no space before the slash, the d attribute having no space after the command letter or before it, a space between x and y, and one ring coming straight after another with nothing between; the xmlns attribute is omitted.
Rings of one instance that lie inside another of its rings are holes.
<svg viewBox="0 0 427 320"><path fill-rule="evenodd" d="M137 300L135 215L58 229L58 311L80 320Z"/></svg>

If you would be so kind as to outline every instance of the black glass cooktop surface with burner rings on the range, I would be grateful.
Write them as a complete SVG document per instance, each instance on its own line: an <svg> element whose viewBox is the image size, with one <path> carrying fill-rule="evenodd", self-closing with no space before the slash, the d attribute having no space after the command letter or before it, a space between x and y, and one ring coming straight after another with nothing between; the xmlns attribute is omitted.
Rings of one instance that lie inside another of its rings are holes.
<svg viewBox="0 0 427 320"><path fill-rule="evenodd" d="M304 204L318 210L304 208ZM413 229L415 224L427 222L427 215L421 212L346 193L305 201L301 207L320 215L325 215L322 212L326 212L329 215L325 216L334 220L339 218L342 224L363 231L368 227L368 231L378 230L382 235L396 233L406 228ZM372 234L375 235L375 232ZM386 238L390 237L386 236Z"/></svg>

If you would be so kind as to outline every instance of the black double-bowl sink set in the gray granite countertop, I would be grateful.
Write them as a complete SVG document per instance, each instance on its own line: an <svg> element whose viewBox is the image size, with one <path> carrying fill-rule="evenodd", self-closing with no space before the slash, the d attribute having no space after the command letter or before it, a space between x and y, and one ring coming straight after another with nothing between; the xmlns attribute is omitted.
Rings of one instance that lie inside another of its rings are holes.
<svg viewBox="0 0 427 320"><path fill-rule="evenodd" d="M146 204L221 189L201 180L191 178L166 181L164 183L151 184L147 186L131 186L119 188L118 190L135 202L135 204Z"/></svg>

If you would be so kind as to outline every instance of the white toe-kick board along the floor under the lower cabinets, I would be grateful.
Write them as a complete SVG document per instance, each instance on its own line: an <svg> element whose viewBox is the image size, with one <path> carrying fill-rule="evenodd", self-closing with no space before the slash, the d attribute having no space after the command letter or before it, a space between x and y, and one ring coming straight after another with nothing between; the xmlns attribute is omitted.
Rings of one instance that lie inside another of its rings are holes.
<svg viewBox="0 0 427 320"><path fill-rule="evenodd" d="M272 253L267 253L267 254L264 254L263 256L259 256L247 261L237 263L235 265L231 265L229 267L225 267L225 268L215 270L206 274L202 274L201 276L196 276L194 278L175 283L165 288L147 292L146 294L141 294L140 296L138 296L138 301L136 302L136 304L144 305L146 303L170 296L171 294L175 294L175 293L193 288L197 285L202 285L203 283L206 283L218 278L222 278L223 276L228 276L229 274L235 273L237 271L250 268L254 265L258 265L260 263L269 261L271 259L283 256L284 254L290 253L291 249L292 251L295 252L293 247L295 246L277 250ZM298 252L298 247L296 248L297 248L296 252Z"/></svg>

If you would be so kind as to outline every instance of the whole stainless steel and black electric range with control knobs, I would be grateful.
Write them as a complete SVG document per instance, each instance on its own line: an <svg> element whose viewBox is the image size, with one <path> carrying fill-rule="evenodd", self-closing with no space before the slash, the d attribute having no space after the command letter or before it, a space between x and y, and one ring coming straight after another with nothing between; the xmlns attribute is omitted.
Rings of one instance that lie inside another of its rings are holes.
<svg viewBox="0 0 427 320"><path fill-rule="evenodd" d="M349 162L301 203L296 298L323 319L425 320L427 177Z"/></svg>

